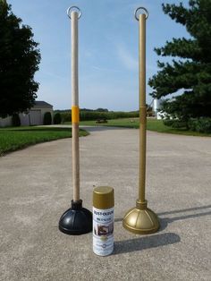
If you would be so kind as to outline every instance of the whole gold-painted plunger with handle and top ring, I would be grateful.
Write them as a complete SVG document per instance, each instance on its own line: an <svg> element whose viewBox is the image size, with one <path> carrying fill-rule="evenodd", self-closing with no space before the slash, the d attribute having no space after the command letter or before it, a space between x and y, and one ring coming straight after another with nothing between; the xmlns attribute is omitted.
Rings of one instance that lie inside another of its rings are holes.
<svg viewBox="0 0 211 281"><path fill-rule="evenodd" d="M139 14L139 10L145 13ZM156 214L148 209L148 201L145 200L146 177L146 20L148 11L138 8L135 18L139 21L139 199L136 207L130 209L123 218L122 225L134 234L152 234L159 228L159 220Z"/></svg>

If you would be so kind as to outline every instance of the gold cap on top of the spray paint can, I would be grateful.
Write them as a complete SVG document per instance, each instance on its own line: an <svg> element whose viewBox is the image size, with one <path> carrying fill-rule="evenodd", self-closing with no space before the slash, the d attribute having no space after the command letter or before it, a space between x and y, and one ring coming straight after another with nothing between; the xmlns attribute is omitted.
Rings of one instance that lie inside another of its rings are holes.
<svg viewBox="0 0 211 281"><path fill-rule="evenodd" d="M96 209L111 209L114 207L114 188L98 186L93 191L93 206Z"/></svg>

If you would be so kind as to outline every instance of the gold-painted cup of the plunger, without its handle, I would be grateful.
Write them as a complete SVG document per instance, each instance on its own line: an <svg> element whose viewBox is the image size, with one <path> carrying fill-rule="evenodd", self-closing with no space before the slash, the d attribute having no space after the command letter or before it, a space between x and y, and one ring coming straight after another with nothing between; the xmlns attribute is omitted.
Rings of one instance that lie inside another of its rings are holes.
<svg viewBox="0 0 211 281"><path fill-rule="evenodd" d="M156 214L147 207L148 202L137 200L136 207L130 209L123 218L122 225L133 234L153 234L160 224Z"/></svg>

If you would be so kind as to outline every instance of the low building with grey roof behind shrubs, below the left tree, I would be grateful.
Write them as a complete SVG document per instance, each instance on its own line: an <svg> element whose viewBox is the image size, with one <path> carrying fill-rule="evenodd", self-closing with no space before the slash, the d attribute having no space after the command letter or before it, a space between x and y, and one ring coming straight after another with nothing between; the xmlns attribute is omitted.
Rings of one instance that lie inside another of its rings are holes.
<svg viewBox="0 0 211 281"><path fill-rule="evenodd" d="M19 114L21 126L42 125L44 115L50 112L53 120L53 106L46 101L35 101L35 105L30 108L28 113ZM0 127L12 126L12 116L0 118Z"/></svg>

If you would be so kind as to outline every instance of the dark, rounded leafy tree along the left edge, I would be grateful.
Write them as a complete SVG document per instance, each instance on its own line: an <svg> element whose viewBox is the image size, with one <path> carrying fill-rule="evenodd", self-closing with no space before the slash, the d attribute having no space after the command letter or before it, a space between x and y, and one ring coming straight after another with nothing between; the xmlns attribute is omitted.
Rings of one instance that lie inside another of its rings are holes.
<svg viewBox="0 0 211 281"><path fill-rule="evenodd" d="M0 116L27 111L33 106L40 53L31 28L21 24L6 0L0 0Z"/></svg>

